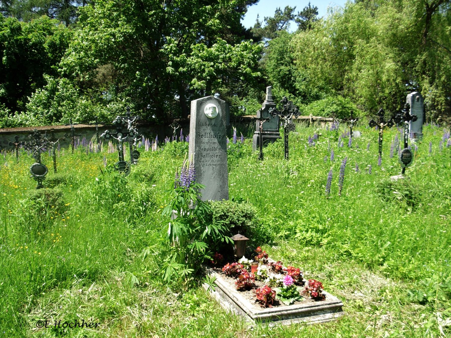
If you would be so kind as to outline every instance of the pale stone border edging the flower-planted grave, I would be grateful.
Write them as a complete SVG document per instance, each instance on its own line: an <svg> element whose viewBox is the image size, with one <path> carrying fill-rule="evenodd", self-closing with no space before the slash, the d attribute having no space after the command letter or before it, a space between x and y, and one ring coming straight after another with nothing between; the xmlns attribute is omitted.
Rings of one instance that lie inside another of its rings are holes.
<svg viewBox="0 0 451 338"><path fill-rule="evenodd" d="M206 268L206 273L210 277L216 277L216 287L213 291L207 284L203 284L203 288L209 291L224 309L243 316L250 323L261 321L268 325L313 324L335 320L344 315L342 301L325 291L323 293L326 299L323 301L304 300L289 306L262 308L257 302L249 301L240 291L231 287L224 275L209 268Z"/></svg>

